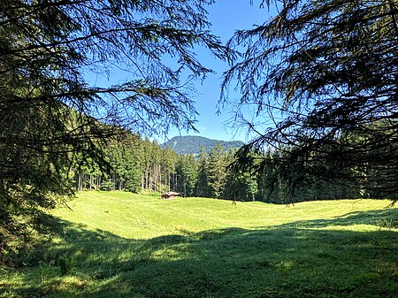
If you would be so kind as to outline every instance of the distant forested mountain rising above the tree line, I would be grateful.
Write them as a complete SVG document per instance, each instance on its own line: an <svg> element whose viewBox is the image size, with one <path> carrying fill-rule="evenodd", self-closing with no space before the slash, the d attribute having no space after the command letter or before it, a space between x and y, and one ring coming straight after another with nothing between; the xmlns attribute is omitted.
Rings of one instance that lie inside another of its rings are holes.
<svg viewBox="0 0 398 298"><path fill-rule="evenodd" d="M162 148L167 146L179 154L200 154L202 147L210 152L210 149L220 143L226 149L240 148L244 145L243 141L218 141L204 138L203 136L175 136L170 141L162 144Z"/></svg>

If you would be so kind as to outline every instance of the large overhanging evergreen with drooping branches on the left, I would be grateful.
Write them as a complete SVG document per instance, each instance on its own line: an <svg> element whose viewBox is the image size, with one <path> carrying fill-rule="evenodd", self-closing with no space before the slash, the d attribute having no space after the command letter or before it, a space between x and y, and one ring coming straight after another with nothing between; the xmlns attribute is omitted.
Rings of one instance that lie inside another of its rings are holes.
<svg viewBox="0 0 398 298"><path fill-rule="evenodd" d="M0 1L0 246L6 249L8 232L29 230L29 221L18 225L12 214L34 218L36 207L73 195L74 154L105 164L101 145L120 126L147 134L192 128L192 84L181 73L192 80L210 72L196 45L226 54L207 30L206 4ZM106 78L115 63L126 82L86 80L86 73Z"/></svg>

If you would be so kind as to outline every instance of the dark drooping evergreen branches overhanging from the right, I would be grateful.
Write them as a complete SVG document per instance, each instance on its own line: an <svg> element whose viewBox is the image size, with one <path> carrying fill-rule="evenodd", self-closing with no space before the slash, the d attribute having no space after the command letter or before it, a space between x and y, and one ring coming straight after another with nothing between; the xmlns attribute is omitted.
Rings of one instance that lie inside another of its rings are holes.
<svg viewBox="0 0 398 298"><path fill-rule="evenodd" d="M234 34L229 45L244 50L223 84L227 101L228 87L237 81L236 112L256 134L241 150L241 160L264 168L272 160L254 162L249 152L276 148L283 152L280 168L292 188L320 178L354 185L345 178L355 171L356 187L372 195L396 193L398 3L263 4L278 12ZM255 108L254 120L244 118L248 106Z"/></svg>

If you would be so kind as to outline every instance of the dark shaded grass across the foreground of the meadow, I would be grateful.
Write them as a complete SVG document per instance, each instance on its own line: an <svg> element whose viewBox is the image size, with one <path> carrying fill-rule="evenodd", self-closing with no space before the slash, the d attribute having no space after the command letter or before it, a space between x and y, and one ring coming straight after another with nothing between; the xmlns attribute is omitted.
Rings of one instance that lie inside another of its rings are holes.
<svg viewBox="0 0 398 298"><path fill-rule="evenodd" d="M64 223L61 239L43 244L42 264L0 288L4 297L394 297L397 233L313 227L395 222L396 211L148 241ZM60 257L71 260L68 276Z"/></svg>

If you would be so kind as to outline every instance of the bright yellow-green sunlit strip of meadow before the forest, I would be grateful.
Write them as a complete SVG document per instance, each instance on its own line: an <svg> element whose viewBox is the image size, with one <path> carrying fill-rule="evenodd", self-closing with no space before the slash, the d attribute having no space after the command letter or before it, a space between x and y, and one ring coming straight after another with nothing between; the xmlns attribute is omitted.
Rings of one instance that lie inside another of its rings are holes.
<svg viewBox="0 0 398 298"><path fill-rule="evenodd" d="M355 217L357 225L365 223L377 226L377 221L383 220L383 216L374 218L374 223L371 223L371 215L361 217L360 212L383 210L388 203L378 200L342 200L301 202L287 206L237 202L234 206L230 201L207 198L160 200L124 192L91 192L80 193L76 200L69 203L73 211L62 208L53 214L85 225L88 229L99 229L131 239L150 239L171 233L183 234L233 226L263 228L295 222L295 225L300 225L300 221L319 218L336 220L333 222L336 225L344 218ZM388 228L388 225L384 227ZM354 227L351 225L351 228Z"/></svg>

